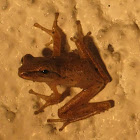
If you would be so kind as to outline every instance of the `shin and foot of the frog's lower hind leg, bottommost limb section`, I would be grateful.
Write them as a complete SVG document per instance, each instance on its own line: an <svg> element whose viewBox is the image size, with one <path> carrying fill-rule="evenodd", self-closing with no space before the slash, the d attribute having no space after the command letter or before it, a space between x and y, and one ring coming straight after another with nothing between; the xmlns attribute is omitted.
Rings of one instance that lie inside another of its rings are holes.
<svg viewBox="0 0 140 140"><path fill-rule="evenodd" d="M60 119L48 119L48 122L64 122L59 131L62 131L68 124L86 119L90 116L100 114L101 112L107 111L108 109L114 107L114 101L108 100L103 102L96 103L87 103L82 106L77 106L67 112L61 114L60 110L58 111Z"/></svg>

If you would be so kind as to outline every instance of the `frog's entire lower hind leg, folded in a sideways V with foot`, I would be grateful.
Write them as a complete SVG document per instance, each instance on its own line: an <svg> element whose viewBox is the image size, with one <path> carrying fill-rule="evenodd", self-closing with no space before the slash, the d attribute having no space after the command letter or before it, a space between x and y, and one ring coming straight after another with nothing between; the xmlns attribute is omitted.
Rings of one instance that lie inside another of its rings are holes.
<svg viewBox="0 0 140 140"><path fill-rule="evenodd" d="M81 91L62 108L58 110L60 119L49 119L48 122L64 122L60 131L69 123L79 121L95 114L99 114L114 106L113 100L89 103L104 88L104 83L97 82L92 87Z"/></svg>

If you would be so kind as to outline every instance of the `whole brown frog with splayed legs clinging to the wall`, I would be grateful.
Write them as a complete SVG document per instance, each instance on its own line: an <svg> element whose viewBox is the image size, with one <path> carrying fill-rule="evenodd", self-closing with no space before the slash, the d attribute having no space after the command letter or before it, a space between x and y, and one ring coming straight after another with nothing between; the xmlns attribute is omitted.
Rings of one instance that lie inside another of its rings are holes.
<svg viewBox="0 0 140 140"><path fill-rule="evenodd" d="M111 82L105 64L103 63L96 45L88 32L85 36L82 32L80 21L76 21L77 36L71 38L75 42L78 51L67 52L66 35L57 25L59 13L55 14L52 30L48 30L38 23L34 26L47 32L53 38L53 52L46 49L44 57L33 57L27 54L22 59L22 66L18 70L21 78L36 82L45 82L50 86L53 93L45 96L30 90L46 101L46 103L35 111L35 114L43 112L47 106L58 104L69 95L70 87L80 87L83 90L73 97L68 103L58 110L59 119L48 119L48 122L63 122L64 129L69 123L82 120L99 114L114 107L113 100L89 103L108 82ZM67 87L60 94L57 85Z"/></svg>

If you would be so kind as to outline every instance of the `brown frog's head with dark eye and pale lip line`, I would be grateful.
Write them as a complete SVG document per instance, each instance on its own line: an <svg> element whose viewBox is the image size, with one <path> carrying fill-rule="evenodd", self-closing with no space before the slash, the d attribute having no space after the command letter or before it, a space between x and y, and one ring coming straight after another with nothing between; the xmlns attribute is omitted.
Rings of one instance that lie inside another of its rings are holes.
<svg viewBox="0 0 140 140"><path fill-rule="evenodd" d="M26 54L22 59L18 75L27 80L51 82L60 78L59 66L55 58L33 57Z"/></svg>

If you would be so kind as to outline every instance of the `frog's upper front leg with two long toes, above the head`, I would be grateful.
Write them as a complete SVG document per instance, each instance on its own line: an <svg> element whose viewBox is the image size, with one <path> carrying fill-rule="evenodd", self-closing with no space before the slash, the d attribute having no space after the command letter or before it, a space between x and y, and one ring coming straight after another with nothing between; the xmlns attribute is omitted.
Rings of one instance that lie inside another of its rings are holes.
<svg viewBox="0 0 140 140"><path fill-rule="evenodd" d="M40 28L45 31L53 38L53 55L52 56L60 56L65 53L67 43L66 43L66 35L62 31L62 29L58 26L57 20L59 17L59 13L55 13L55 19L53 22L52 30L46 29L38 23L35 23L34 26Z"/></svg>

